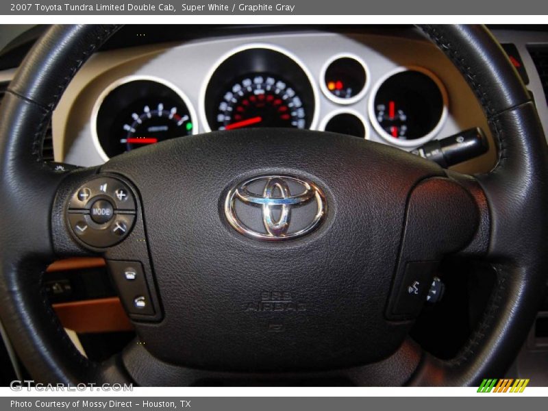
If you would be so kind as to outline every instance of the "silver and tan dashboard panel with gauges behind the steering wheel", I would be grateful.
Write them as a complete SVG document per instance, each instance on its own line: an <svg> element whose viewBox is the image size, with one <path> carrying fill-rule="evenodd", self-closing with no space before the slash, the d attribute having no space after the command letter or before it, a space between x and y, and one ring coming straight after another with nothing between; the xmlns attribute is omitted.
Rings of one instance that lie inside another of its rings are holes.
<svg viewBox="0 0 548 411"><path fill-rule="evenodd" d="M475 96L414 29L244 31L97 53L55 110L55 160L93 166L169 138L241 127L325 130L415 152L479 127L490 149L456 169L495 162Z"/></svg>

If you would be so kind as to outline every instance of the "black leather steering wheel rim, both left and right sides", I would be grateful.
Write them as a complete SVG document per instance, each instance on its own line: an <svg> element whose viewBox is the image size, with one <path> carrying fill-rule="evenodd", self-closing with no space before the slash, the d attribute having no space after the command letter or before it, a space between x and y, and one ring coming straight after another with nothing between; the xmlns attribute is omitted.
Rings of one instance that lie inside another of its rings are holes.
<svg viewBox="0 0 548 411"><path fill-rule="evenodd" d="M477 384L488 375L502 375L530 329L545 286L548 155L530 95L486 27L421 28L475 92L497 142L495 168L470 177L471 184L481 188L476 191L487 210L483 221L488 245L481 258L493 266L497 282L483 320L456 358L440 360L405 343L387 360L364 366L362 376L356 378L359 384L462 386ZM80 355L40 286L45 267L62 250L62 245L54 245L52 204L62 182L71 178L42 162L45 129L75 73L118 29L106 25L51 27L21 64L1 106L0 293L4 302L0 318L37 381L146 381L142 377L146 371L137 365L147 362L144 350L127 349L122 356L100 364ZM131 370L130 362L134 364ZM190 381L181 377L188 371L164 365L162 372L168 371L168 377ZM364 373L373 377L364 377ZM155 384L167 385L169 379L159 377Z"/></svg>

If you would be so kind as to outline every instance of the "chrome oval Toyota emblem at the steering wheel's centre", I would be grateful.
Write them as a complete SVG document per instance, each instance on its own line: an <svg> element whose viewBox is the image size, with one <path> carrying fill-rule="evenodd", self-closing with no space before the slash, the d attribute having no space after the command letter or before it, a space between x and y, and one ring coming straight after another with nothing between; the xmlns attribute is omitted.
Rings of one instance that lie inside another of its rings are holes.
<svg viewBox="0 0 548 411"><path fill-rule="evenodd" d="M290 175L254 177L229 190L225 216L236 231L264 241L308 234L327 211L318 186Z"/></svg>

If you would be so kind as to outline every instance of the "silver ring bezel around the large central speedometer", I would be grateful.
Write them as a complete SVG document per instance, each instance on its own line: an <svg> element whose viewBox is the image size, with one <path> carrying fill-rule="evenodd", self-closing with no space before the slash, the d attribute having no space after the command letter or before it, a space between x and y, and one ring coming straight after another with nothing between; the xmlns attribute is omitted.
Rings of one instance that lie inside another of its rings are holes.
<svg viewBox="0 0 548 411"><path fill-rule="evenodd" d="M216 62L211 66L210 71L208 71L208 74L203 79L203 82L201 84L200 92L199 92L199 116L200 121L203 127L204 132L212 132L211 126L208 122L208 116L206 113L206 92L208 90L208 86L211 82L211 79L214 75L214 73L219 69L219 66L223 64L226 60L231 58L233 55L236 55L240 53L241 51L247 51L251 49L268 49L271 51L277 51L278 53L281 53L285 55L287 58L295 62L297 66L303 71L303 73L308 78L308 82L310 84L310 88L312 88L312 96L314 99L314 111L312 112L312 119L310 121L310 127L308 129L310 130L316 130L318 125L318 118L319 118L319 105L320 105L320 98L318 93L318 88L316 87L316 82L314 80L314 77L312 76L312 73L308 69L308 67L300 60L297 55L289 51L288 49L284 47L280 47L278 45L272 45L269 43L262 43L262 42L253 42L253 43L246 43L245 45L240 45L238 47L234 47L227 51L227 53L223 54L221 58L216 60ZM277 75L283 75L283 73L277 73Z"/></svg>

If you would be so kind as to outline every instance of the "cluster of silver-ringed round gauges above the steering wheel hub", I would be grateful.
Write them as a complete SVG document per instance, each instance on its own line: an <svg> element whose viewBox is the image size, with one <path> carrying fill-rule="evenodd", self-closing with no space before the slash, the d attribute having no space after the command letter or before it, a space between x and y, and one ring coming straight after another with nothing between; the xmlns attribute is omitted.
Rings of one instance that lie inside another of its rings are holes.
<svg viewBox="0 0 548 411"><path fill-rule="evenodd" d="M161 77L116 79L92 110L92 138L103 160L170 138L242 127L358 138L370 138L373 127L384 142L414 149L435 138L447 117L444 84L420 66L399 66L372 79L364 58L337 53L315 74L283 47L250 44L211 67L199 101ZM330 110L320 118L322 101Z"/></svg>

